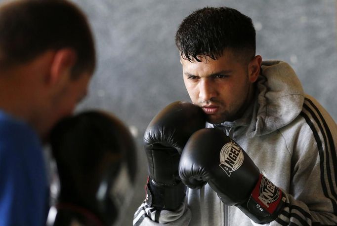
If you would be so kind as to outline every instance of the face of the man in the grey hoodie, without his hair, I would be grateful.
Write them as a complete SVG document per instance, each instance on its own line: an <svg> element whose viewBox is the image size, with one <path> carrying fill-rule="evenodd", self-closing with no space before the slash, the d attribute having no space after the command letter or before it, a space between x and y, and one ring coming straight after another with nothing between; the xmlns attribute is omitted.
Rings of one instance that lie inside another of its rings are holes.
<svg viewBox="0 0 337 226"><path fill-rule="evenodd" d="M233 121L242 116L256 80L250 78L248 63L242 63L230 50L225 50L217 60L210 57L202 57L201 62L182 57L180 60L191 101L204 110L210 123Z"/></svg>

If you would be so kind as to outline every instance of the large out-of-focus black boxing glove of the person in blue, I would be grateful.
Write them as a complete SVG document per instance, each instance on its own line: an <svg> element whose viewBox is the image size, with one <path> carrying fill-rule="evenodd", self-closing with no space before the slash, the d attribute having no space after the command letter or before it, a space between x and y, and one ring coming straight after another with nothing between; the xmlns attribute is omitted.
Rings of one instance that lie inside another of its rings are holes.
<svg viewBox="0 0 337 226"><path fill-rule="evenodd" d="M115 116L90 111L60 121L51 131L60 192L47 226L111 226L132 197L133 138Z"/></svg>

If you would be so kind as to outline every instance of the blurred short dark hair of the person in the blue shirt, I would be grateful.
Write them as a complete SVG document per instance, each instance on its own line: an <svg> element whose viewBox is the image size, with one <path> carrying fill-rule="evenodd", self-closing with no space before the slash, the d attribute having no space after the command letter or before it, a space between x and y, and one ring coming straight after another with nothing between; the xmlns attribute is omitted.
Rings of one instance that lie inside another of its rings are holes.
<svg viewBox="0 0 337 226"><path fill-rule="evenodd" d="M67 0L14 0L0 7L0 68L30 62L46 50L76 54L73 78L95 68L93 37L84 13Z"/></svg>

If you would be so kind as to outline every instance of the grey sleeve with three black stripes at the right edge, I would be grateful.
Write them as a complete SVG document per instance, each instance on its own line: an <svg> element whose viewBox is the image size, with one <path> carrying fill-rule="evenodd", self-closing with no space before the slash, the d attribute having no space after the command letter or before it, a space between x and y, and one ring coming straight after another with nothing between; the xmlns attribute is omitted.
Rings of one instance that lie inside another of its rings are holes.
<svg viewBox="0 0 337 226"><path fill-rule="evenodd" d="M285 208L270 225L337 225L337 126L314 100L305 98L302 126L288 143L293 149ZM290 135L289 135L290 136Z"/></svg>

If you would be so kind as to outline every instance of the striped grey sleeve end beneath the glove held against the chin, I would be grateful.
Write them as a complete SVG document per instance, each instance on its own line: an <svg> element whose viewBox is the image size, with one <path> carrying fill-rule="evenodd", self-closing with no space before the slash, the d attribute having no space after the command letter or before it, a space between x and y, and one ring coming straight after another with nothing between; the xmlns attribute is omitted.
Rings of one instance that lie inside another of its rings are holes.
<svg viewBox="0 0 337 226"><path fill-rule="evenodd" d="M178 226L189 225L191 211L187 208L187 199L176 211L157 210L149 207L145 200L133 217L133 226Z"/></svg>

